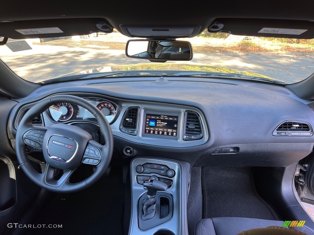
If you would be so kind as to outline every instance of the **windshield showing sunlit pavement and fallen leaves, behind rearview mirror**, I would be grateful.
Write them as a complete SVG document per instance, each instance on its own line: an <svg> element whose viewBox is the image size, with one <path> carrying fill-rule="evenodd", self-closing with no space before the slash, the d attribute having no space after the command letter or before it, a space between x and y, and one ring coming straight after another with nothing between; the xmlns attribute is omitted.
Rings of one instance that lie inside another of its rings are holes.
<svg viewBox="0 0 314 235"><path fill-rule="evenodd" d="M291 84L314 72L314 39L248 37L204 31L194 38L179 39L191 42L192 60L166 63L128 58L125 46L129 39L117 31L63 38L9 39L7 45L0 47L0 58L17 75L35 83L100 77L106 73L114 76L115 72L120 72L121 76L123 71L142 72L136 76L150 75L149 71L165 76L192 71L202 73L182 74L208 76L214 72L214 76L238 79L243 75L244 78Z"/></svg>

